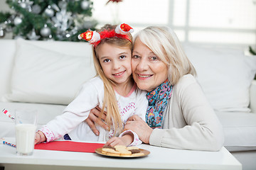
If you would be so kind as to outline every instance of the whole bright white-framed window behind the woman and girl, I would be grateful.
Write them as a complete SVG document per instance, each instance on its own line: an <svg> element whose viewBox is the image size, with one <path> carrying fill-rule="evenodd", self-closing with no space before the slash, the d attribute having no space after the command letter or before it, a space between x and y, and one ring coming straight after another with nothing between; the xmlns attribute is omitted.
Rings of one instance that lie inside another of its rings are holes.
<svg viewBox="0 0 256 170"><path fill-rule="evenodd" d="M256 0L93 0L99 26L129 23L136 30L169 26L182 42L256 44ZM116 18L115 18L116 17Z"/></svg>

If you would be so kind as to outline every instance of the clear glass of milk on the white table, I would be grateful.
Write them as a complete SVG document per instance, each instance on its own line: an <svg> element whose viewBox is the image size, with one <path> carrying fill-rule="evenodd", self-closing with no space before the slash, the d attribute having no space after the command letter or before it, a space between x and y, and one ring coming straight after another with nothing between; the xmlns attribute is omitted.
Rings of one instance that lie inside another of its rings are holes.
<svg viewBox="0 0 256 170"><path fill-rule="evenodd" d="M35 110L15 111L16 152L18 155L32 155L35 142L38 112Z"/></svg>

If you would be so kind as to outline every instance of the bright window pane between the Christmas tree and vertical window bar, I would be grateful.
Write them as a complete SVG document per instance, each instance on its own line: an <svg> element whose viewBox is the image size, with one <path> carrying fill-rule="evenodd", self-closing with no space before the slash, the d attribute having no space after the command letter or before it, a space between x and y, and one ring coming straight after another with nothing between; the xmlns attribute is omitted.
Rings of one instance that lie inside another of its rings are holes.
<svg viewBox="0 0 256 170"><path fill-rule="evenodd" d="M94 17L100 23L114 23L118 18L134 26L168 24L169 0L123 0L119 3L94 0ZM119 21L117 21L119 23Z"/></svg>

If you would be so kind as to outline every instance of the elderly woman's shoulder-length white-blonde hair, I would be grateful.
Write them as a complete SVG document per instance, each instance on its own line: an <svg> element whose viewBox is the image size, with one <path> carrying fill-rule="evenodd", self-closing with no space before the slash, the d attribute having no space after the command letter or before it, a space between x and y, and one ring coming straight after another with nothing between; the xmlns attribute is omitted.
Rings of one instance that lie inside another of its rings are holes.
<svg viewBox="0 0 256 170"><path fill-rule="evenodd" d="M171 84L176 84L185 74L196 76L196 69L188 60L181 42L171 28L150 26L140 30L134 36L134 42L137 38L167 64L168 79Z"/></svg>

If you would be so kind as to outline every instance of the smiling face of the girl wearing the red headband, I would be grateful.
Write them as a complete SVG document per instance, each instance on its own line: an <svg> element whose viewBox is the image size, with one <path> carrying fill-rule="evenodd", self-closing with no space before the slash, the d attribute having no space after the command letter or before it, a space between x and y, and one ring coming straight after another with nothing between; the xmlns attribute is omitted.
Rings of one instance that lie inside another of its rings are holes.
<svg viewBox="0 0 256 170"><path fill-rule="evenodd" d="M129 47L118 47L104 43L97 47L97 57L105 76L117 86L127 84L132 74L132 51Z"/></svg>

